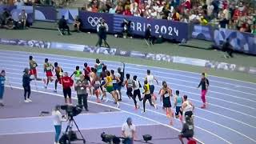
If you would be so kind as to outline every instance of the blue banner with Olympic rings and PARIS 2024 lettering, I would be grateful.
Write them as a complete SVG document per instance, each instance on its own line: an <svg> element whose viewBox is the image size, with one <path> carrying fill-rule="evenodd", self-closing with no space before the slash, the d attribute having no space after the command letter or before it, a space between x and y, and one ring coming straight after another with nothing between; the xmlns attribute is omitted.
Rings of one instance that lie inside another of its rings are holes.
<svg viewBox="0 0 256 144"><path fill-rule="evenodd" d="M166 39L175 39L181 42L188 39L188 24L183 22L167 21L164 19L148 19L141 17L130 17L119 14L104 14L79 11L79 17L82 19L83 28L87 30L96 30L100 19L104 19L109 26L109 33L116 34L122 31L122 22L126 20L131 22L133 34L144 36L147 26L151 26L152 35L162 35Z"/></svg>

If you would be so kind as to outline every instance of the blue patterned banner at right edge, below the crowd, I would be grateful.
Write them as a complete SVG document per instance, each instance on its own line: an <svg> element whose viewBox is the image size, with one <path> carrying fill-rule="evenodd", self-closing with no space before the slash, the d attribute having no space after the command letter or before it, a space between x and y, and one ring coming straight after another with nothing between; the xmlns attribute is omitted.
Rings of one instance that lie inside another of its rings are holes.
<svg viewBox="0 0 256 144"><path fill-rule="evenodd" d="M234 50L246 54L256 54L256 38L254 34L222 28L214 30L214 43L216 46L221 47L227 38L229 38L230 45L234 47Z"/></svg>

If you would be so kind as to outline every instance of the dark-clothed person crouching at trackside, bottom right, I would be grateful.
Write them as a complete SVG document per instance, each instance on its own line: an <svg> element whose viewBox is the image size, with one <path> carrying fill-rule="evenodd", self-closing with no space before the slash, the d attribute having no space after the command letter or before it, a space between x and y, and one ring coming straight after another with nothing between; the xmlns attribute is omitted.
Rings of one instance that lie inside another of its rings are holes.
<svg viewBox="0 0 256 144"><path fill-rule="evenodd" d="M184 144L182 138L190 140L194 136L194 125L190 117L186 117L186 122L183 124L182 132L178 135L179 140Z"/></svg>

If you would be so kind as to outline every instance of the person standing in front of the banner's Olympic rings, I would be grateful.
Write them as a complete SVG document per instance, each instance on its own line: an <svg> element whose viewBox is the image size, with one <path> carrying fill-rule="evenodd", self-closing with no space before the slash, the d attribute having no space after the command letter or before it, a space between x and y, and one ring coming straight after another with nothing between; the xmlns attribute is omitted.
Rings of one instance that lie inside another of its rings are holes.
<svg viewBox="0 0 256 144"><path fill-rule="evenodd" d="M106 33L108 30L109 30L109 26L107 26L104 19L101 19L101 21L98 22L98 26L97 26L98 42L96 46L102 47L102 40L104 40L105 47L110 48L110 45L106 42Z"/></svg>

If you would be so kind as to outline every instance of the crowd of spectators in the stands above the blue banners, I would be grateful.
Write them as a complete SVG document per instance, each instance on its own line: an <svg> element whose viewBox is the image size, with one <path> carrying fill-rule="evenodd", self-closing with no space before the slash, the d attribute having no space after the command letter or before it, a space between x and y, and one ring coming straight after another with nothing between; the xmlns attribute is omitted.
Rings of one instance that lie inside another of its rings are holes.
<svg viewBox="0 0 256 144"><path fill-rule="evenodd" d="M254 4L252 0L90 0L83 10L213 25L256 34Z"/></svg>

